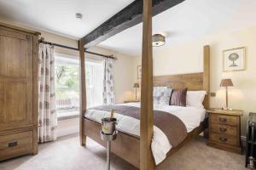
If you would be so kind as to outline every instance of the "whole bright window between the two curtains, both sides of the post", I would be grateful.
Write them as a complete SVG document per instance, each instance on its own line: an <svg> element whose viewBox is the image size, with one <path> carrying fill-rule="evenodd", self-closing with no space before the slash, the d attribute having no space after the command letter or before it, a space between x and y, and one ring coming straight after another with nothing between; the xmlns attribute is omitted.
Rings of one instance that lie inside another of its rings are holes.
<svg viewBox="0 0 256 170"><path fill-rule="evenodd" d="M102 105L102 61L86 60L87 107ZM56 110L61 117L79 116L79 59L55 54Z"/></svg>

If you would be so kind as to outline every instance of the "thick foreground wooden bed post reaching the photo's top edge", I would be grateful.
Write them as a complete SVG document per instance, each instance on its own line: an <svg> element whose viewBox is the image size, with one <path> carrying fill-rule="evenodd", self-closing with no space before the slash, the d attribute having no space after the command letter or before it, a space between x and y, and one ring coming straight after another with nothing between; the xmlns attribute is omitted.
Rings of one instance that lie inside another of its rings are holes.
<svg viewBox="0 0 256 170"><path fill-rule="evenodd" d="M143 59L140 121L140 169L154 169L153 137L153 57L152 0L143 0Z"/></svg>

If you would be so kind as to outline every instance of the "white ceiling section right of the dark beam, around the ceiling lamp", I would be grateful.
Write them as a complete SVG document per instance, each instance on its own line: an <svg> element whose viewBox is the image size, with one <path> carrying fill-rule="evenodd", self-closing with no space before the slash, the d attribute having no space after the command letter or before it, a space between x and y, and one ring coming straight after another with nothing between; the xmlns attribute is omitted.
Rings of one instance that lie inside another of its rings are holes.
<svg viewBox="0 0 256 170"><path fill-rule="evenodd" d="M186 0L154 17L153 33L166 34L166 45L154 50L247 26L256 26L255 0ZM108 38L99 46L137 56L142 51L142 35L143 25L140 24Z"/></svg>

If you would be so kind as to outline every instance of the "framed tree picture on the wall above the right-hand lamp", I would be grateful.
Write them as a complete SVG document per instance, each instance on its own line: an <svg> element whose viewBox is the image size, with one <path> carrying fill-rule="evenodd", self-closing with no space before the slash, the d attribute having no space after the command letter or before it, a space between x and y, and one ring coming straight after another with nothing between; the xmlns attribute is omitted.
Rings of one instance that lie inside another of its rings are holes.
<svg viewBox="0 0 256 170"><path fill-rule="evenodd" d="M223 71L244 71L246 48L227 49L223 52Z"/></svg>

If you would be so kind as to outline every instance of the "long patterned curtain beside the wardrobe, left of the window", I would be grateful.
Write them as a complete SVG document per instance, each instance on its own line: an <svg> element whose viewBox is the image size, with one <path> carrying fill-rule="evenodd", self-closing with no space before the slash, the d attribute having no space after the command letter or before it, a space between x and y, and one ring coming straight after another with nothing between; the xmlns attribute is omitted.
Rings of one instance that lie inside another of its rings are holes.
<svg viewBox="0 0 256 170"><path fill-rule="evenodd" d="M38 141L44 143L56 139L54 47L40 43L38 57Z"/></svg>

